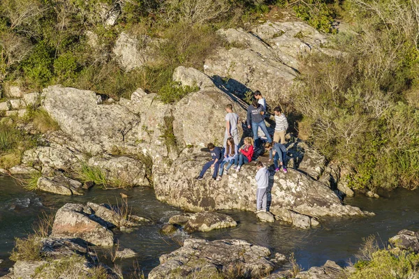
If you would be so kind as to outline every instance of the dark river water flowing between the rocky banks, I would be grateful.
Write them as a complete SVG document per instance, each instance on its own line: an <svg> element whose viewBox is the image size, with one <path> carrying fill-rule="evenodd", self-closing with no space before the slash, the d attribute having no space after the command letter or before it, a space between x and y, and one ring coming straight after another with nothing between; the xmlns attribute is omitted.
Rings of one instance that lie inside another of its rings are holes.
<svg viewBox="0 0 419 279"><path fill-rule="evenodd" d="M126 259L121 265L128 272L133 264L138 264L147 273L157 264L159 256L179 248L179 241L188 237L179 232L174 237L161 236L159 229L170 216L181 211L156 200L150 188L134 188L130 191L101 190L92 188L84 196L66 197L47 193L31 193L24 190L13 179L0 176L0 264L3 272L13 265L8 260L15 237L23 237L31 232L42 211L56 211L66 202L111 203L116 204L119 193L128 195L128 204L133 213L151 218L154 225L146 225L131 233L116 234L120 248L131 248L138 252L135 259ZM238 223L233 229L221 229L208 233L196 233L193 237L215 239L244 239L251 243L267 246L272 252L289 255L295 253L298 264L303 269L319 266L331 259L341 266L353 262L353 255L362 244L362 238L374 234L382 245L400 229L419 229L419 191L395 190L387 197L369 199L357 196L346 199L346 204L360 206L373 211L370 218L331 218L324 220L318 229L301 230L279 223L260 223L251 212L223 211ZM108 257L109 258L109 257ZM107 259L105 259L106 261Z"/></svg>

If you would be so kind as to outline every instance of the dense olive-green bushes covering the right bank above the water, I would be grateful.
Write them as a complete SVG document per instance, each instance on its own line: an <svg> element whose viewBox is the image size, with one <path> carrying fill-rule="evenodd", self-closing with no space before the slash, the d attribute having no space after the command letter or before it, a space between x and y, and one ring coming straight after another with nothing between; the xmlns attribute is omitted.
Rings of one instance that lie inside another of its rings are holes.
<svg viewBox="0 0 419 279"><path fill-rule="evenodd" d="M335 36L335 47L346 55L311 56L304 85L295 88L300 137L348 169L351 188L419 186L415 5L344 1L341 15L358 34Z"/></svg>

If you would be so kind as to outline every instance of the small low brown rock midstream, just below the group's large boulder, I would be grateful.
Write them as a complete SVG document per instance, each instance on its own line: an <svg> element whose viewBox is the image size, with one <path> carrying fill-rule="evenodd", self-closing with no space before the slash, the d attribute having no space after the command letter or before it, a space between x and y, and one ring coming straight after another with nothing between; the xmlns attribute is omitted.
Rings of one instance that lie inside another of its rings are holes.
<svg viewBox="0 0 419 279"><path fill-rule="evenodd" d="M169 223L184 225L186 232L210 232L213 229L235 227L237 223L226 214L216 212L199 212L184 216L172 216Z"/></svg>

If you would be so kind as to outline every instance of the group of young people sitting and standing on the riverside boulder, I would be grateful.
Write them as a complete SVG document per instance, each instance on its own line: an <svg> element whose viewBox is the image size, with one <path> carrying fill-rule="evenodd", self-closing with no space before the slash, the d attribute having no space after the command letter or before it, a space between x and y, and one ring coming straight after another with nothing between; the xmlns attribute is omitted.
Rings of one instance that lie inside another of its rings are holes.
<svg viewBox="0 0 419 279"><path fill-rule="evenodd" d="M226 133L223 139L223 151L219 146L213 143L207 144L210 149L212 160L203 166L197 180L203 179L207 169L213 169L212 179L221 181L223 174L228 174L230 167L236 172L240 172L242 165L250 163L253 153L257 149L258 132L260 131L266 137L264 147L270 152L270 161L273 159L275 172L281 169L287 172L285 166L286 146L285 135L288 129L288 121L282 113L281 107L274 108L275 129L273 140L267 131L265 118L267 116L266 100L260 91L255 91L254 100L247 109L247 128L252 130L252 137L244 137L244 144L239 147L240 136L237 130L239 116L233 112L233 105L226 105ZM278 163L279 160L279 163ZM269 182L269 171L262 162L256 163L256 182L258 190L256 192L256 212L266 211L267 205L267 187Z"/></svg>

